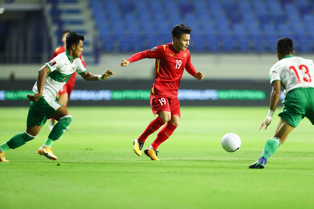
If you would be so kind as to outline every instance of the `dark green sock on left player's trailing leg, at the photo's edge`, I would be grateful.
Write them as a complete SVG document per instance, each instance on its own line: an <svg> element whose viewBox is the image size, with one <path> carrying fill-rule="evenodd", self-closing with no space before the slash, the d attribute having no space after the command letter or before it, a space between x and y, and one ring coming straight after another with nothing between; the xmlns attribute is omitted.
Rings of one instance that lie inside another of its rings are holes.
<svg viewBox="0 0 314 209"><path fill-rule="evenodd" d="M3 152L7 151L8 149L15 149L18 148L26 142L34 139L36 136L32 136L26 132L16 134L12 138L10 138L7 142L3 143L0 145L1 149Z"/></svg>

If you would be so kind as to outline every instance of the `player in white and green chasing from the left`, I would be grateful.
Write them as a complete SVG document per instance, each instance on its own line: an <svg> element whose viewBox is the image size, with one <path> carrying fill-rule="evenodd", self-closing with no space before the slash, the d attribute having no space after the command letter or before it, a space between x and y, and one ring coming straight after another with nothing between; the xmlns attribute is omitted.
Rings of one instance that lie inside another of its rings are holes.
<svg viewBox="0 0 314 209"><path fill-rule="evenodd" d="M114 75L111 70L107 70L102 75L95 75L84 68L82 61L78 59L83 52L83 41L83 35L69 33L66 38L67 50L38 71L37 81L33 87L34 94L26 96L30 101L26 131L16 134L0 145L1 162L8 162L4 157L4 152L18 148L34 139L49 118L54 118L58 123L52 128L43 146L38 149L38 154L56 160L57 157L52 153L51 145L60 138L72 122L72 116L68 110L56 102L58 91L75 71L87 81L104 80Z"/></svg>

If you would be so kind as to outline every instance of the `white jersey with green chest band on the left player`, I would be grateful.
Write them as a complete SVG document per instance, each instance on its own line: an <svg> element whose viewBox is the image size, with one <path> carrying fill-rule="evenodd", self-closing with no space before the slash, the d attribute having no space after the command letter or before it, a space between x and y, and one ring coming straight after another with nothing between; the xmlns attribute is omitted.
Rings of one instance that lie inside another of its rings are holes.
<svg viewBox="0 0 314 209"><path fill-rule="evenodd" d="M61 87L66 84L75 71L78 74L86 71L81 59L75 58L73 62L70 61L71 59L72 57L65 51L45 64L49 68L50 73L46 76L42 96L48 96L55 100ZM38 92L37 81L33 87L33 92Z"/></svg>

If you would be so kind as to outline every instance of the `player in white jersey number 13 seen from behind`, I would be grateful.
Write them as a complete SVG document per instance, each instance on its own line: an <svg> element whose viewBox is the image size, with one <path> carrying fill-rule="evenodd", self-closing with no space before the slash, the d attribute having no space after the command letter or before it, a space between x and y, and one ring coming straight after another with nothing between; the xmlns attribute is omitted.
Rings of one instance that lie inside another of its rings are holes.
<svg viewBox="0 0 314 209"><path fill-rule="evenodd" d="M287 139L288 134L306 117L314 125L314 64L312 60L295 57L293 42L289 38L281 38L276 43L279 61L270 69L269 77L272 93L268 116L259 127L268 127L280 97L280 85L284 87L284 101L281 118L273 138L266 142L262 155L249 168L264 168L267 159Z"/></svg>

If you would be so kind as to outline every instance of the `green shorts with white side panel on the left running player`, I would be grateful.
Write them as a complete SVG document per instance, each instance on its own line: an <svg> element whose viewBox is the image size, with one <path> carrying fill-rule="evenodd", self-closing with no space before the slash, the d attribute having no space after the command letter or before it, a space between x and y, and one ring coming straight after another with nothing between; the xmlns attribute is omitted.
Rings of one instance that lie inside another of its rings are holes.
<svg viewBox="0 0 314 209"><path fill-rule="evenodd" d="M62 105L50 97L41 96L37 102L30 102L26 126L43 126L47 119Z"/></svg>

